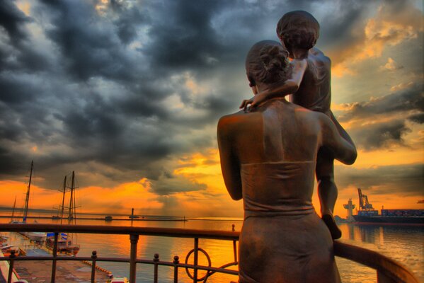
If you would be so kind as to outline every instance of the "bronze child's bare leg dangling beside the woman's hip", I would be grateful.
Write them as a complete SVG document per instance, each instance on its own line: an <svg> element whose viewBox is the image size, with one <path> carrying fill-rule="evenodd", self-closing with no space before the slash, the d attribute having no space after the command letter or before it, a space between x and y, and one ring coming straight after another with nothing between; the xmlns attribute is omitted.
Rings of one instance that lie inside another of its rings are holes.
<svg viewBox="0 0 424 283"><path fill-rule="evenodd" d="M341 231L333 217L338 190L334 183L334 159L329 151L321 148L316 158L316 180L318 181L318 195L321 204L321 217L330 230L331 237L341 237Z"/></svg>

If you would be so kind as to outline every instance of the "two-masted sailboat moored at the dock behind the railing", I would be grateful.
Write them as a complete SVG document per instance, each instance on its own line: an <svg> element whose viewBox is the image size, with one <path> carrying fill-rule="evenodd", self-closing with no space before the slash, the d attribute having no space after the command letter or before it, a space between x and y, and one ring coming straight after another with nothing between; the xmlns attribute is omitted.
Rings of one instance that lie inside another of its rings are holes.
<svg viewBox="0 0 424 283"><path fill-rule="evenodd" d="M72 219L76 221L76 206L75 206L75 171L72 171L72 178L71 178L71 197L69 198L69 214L68 214L68 223L71 224ZM59 211L61 212L61 216L59 214L55 219L60 218L60 224L62 224L62 221L64 219L64 200L65 200L65 192L67 190L67 176L64 178L63 182L63 195L62 195L62 205L59 206ZM79 252L79 245L76 243L73 243L74 237L71 234L68 233L60 233L57 237L57 253L64 254L64 255L76 255ZM53 247L55 246L55 233L47 233L47 239L45 241L45 246L49 250L53 250Z"/></svg>

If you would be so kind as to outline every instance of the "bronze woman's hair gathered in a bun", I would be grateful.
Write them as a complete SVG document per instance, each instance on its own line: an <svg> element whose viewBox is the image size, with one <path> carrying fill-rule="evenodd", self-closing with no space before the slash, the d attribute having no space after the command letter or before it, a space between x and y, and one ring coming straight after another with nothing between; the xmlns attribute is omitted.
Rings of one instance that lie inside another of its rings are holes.
<svg viewBox="0 0 424 283"><path fill-rule="evenodd" d="M246 57L246 74L250 86L256 82L286 81L291 75L289 52L279 42L263 40L251 47Z"/></svg>

